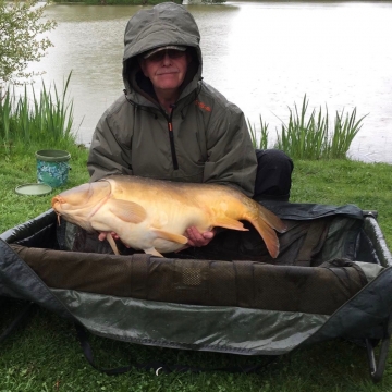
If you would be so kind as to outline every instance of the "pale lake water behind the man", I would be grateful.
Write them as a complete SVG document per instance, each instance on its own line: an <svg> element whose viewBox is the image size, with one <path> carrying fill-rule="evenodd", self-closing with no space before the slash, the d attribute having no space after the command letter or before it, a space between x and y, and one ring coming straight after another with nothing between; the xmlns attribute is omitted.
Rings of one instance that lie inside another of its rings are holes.
<svg viewBox="0 0 392 392"><path fill-rule="evenodd" d="M204 78L235 102L253 124L269 124L270 143L289 108L328 107L368 114L350 156L392 163L392 2L226 2L186 5L201 33ZM123 89L125 24L142 7L52 4L54 44L34 65L62 86L72 71L78 142ZM38 85L37 85L38 87ZM332 125L332 124L331 124Z"/></svg>

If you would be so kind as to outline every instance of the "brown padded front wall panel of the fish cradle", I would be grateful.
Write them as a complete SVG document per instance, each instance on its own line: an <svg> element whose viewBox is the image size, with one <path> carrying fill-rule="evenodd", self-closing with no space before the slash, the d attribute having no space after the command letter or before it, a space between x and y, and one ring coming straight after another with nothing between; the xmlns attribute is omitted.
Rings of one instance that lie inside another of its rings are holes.
<svg viewBox="0 0 392 392"><path fill-rule="evenodd" d="M49 287L175 304L331 315L367 284L362 268L345 259L298 269L11 247Z"/></svg>

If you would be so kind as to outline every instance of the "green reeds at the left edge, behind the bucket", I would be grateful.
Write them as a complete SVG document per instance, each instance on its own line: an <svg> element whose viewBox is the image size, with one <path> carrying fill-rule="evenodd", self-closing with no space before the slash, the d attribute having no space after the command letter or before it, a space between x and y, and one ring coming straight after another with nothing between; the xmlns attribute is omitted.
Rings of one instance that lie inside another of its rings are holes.
<svg viewBox="0 0 392 392"><path fill-rule="evenodd" d="M69 74L63 91L42 82L37 95L34 85L28 95L27 86L24 94L17 96L14 87L8 87L0 99L0 140L2 145L26 145L26 143L49 146L60 140L73 143L76 135L72 132L73 101L68 101ZM29 98L32 97L32 98Z"/></svg>

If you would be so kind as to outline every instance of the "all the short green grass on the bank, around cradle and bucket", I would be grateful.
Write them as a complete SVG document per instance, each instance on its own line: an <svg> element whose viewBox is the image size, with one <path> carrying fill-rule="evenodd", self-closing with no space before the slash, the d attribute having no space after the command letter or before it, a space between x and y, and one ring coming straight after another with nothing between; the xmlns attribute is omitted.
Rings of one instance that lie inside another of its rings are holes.
<svg viewBox="0 0 392 392"><path fill-rule="evenodd" d="M268 125L262 123L261 118L260 123L267 131ZM69 182L46 196L15 194L15 186L36 182L35 151L42 148L66 149L71 154ZM56 193L86 182L86 160L85 148L62 138L54 145L48 140L32 140L24 146L17 142L13 148L3 146L0 149L0 232L48 210ZM381 230L391 247L391 166L347 159L294 159L294 164L293 203L355 204L363 209L378 210ZM0 333L19 308L17 302L0 297ZM91 336L91 345L101 367L159 360L168 365L185 364L203 368L256 363L262 369L249 375L161 372L157 377L152 371L134 368L121 376L106 376L90 367L83 357L72 323L38 309L25 328L16 330L1 343L0 392L387 392L391 391L392 384L392 354L389 355L383 379L375 385L368 375L365 348L342 340L302 347L274 358L268 365L266 358L259 356L158 348L98 336Z"/></svg>

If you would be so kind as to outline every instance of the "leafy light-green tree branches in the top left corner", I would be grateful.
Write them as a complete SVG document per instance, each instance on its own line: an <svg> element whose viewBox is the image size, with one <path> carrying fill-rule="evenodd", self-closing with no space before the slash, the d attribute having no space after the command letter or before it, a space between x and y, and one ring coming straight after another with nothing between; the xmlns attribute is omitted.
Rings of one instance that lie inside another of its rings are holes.
<svg viewBox="0 0 392 392"><path fill-rule="evenodd" d="M26 72L26 68L52 46L45 34L54 28L56 22L44 19L46 7L38 0L0 0L0 87L42 73Z"/></svg>

